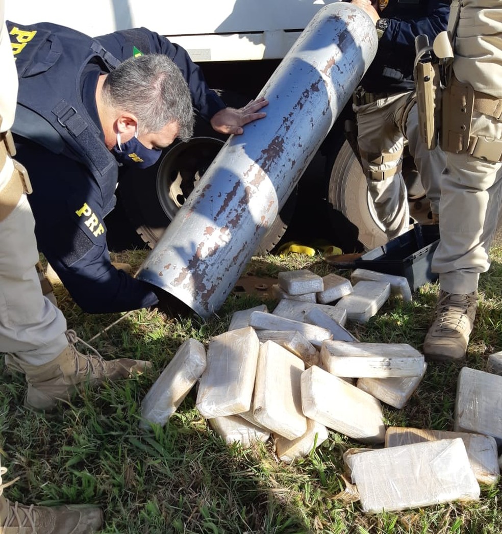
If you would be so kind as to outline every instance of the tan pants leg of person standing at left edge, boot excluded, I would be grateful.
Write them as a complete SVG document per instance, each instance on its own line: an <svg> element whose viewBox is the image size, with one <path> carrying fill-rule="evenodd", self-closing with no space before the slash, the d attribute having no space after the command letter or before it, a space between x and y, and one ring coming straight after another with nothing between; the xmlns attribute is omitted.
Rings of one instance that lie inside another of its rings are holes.
<svg viewBox="0 0 502 534"><path fill-rule="evenodd" d="M7 156L0 169L2 189L12 176ZM67 346L66 319L42 295L35 270L38 251L35 219L25 194L0 221L0 351L14 352L24 362L42 365Z"/></svg>

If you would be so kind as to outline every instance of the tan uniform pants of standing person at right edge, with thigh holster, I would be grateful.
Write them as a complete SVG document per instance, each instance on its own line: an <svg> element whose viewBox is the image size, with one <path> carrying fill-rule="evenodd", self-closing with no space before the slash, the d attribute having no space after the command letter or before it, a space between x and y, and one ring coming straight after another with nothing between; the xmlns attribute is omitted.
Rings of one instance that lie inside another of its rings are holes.
<svg viewBox="0 0 502 534"><path fill-rule="evenodd" d="M500 0L464 0L455 42L456 77L502 98L502 5ZM502 122L474 111L472 135L502 139ZM441 242L433 271L448 293L471 293L490 267L488 252L502 200L502 164L446 153L441 177Z"/></svg>

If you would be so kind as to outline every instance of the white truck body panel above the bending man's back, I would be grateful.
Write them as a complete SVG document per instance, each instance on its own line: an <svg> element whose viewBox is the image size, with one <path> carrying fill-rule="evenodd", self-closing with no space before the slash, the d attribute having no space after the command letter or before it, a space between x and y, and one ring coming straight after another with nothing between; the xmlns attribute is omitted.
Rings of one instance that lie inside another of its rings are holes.
<svg viewBox="0 0 502 534"><path fill-rule="evenodd" d="M339 0L7 0L6 18L55 22L91 36L144 26L194 61L281 59L325 4Z"/></svg>

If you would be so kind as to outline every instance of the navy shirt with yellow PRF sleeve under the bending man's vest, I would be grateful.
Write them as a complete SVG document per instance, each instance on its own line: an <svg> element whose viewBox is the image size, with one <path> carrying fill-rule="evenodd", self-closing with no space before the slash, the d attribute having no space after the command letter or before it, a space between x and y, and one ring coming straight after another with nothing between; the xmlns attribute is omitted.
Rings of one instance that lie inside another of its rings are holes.
<svg viewBox="0 0 502 534"><path fill-rule="evenodd" d="M37 25L30 27L36 29ZM51 28L52 25L44 23L40 27ZM65 46L70 46L72 32L68 29L62 34ZM124 39L124 35L127 38ZM193 105L204 119L209 120L225 107L208 88L201 70L188 54L166 38L142 28L115 32L97 40L119 60L133 55L131 41L143 52L146 49L166 54L181 69L189 84ZM101 73L101 67L92 63L85 67L81 78L85 110L99 130L95 91ZM54 82L57 85L64 80ZM21 78L20 85L22 83ZM104 142L102 131L100 137ZM109 178L114 183L104 187L84 163L48 150L35 141L16 137L17 159L28 169L33 185L28 199L35 217L38 248L75 302L89 313L128 311L158 303L155 294L158 288L116 270L111 264L103 219L114 206L116 172Z"/></svg>

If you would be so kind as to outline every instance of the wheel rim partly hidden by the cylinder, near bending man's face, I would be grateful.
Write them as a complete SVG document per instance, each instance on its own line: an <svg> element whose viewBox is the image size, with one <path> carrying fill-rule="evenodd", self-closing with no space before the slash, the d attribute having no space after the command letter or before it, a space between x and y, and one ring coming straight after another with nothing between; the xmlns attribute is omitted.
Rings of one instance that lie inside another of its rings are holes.
<svg viewBox="0 0 502 534"><path fill-rule="evenodd" d="M160 206L171 221L223 145L224 141L215 137L194 137L164 155L156 187Z"/></svg>

